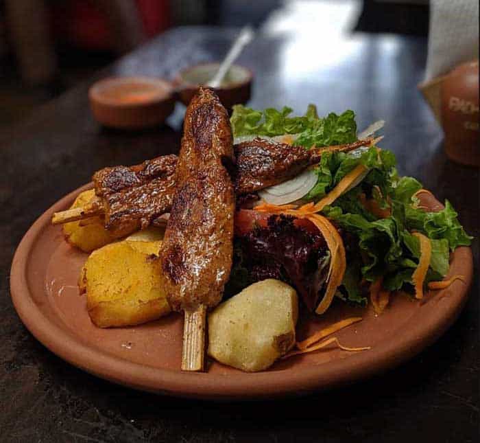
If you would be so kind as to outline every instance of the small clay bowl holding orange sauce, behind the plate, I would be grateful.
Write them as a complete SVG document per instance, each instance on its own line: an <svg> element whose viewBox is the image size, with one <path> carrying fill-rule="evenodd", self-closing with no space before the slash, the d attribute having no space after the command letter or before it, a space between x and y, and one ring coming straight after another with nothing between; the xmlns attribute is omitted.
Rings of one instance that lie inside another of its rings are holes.
<svg viewBox="0 0 480 443"><path fill-rule="evenodd" d="M88 91L95 119L111 128L140 129L165 122L173 112L171 83L149 77L110 77Z"/></svg>

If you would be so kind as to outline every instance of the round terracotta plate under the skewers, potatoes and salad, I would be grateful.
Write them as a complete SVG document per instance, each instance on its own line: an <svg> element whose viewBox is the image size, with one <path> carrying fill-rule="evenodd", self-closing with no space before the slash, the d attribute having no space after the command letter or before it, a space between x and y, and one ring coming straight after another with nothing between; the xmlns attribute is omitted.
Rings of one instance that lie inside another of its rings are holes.
<svg viewBox="0 0 480 443"><path fill-rule="evenodd" d="M461 247L452 254L450 275L463 274L466 283L457 280L422 302L392 297L379 317L371 308L337 301L326 315L299 321L302 339L333 321L360 315L363 321L336 335L346 346L370 345L369 351L323 350L279 361L256 374L216 362L209 362L204 374L184 373L180 315L132 328L99 329L91 323L85 297L77 290L87 255L67 245L61 228L50 225L51 214L67 209L86 188L58 201L25 234L12 264L12 299L27 328L49 350L91 374L136 389L197 398L261 398L350 383L398 365L440 337L459 314L472 280L472 254ZM422 198L433 210L442 207L428 194Z"/></svg>

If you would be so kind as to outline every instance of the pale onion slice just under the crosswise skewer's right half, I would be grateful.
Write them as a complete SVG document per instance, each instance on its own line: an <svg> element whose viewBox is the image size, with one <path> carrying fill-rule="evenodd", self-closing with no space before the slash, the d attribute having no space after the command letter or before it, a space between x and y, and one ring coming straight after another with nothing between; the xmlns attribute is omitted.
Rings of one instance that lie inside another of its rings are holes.
<svg viewBox="0 0 480 443"><path fill-rule="evenodd" d="M315 183L317 183L317 174L307 169L291 180L259 191L259 196L272 205L285 205L307 195Z"/></svg>

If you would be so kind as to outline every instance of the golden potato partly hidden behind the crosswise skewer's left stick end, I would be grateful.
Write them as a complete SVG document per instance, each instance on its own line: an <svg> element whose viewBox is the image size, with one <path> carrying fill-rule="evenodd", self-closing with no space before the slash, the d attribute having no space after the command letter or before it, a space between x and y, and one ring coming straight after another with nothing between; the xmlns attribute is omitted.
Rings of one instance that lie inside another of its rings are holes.
<svg viewBox="0 0 480 443"><path fill-rule="evenodd" d="M95 196L93 189L81 192L75 198L71 209L85 206L93 196ZM65 223L62 229L67 242L85 252L94 251L116 240L115 236L104 228L104 220L100 217Z"/></svg>

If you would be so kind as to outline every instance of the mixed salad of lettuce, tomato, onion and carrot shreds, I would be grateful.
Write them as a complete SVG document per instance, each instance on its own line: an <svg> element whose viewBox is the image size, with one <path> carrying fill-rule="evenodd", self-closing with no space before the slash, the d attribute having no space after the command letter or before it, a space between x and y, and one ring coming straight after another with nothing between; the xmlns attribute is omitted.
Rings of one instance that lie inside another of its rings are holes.
<svg viewBox="0 0 480 443"><path fill-rule="evenodd" d="M351 144L382 126L376 122L358 134L353 111L322 118L315 106L309 105L300 117L291 113L288 107L258 111L234 106L230 122L235 143L261 137L309 150ZM470 245L472 237L461 227L451 203L445 201L440 212L422 207L418 195L428 191L417 179L401 177L394 153L376 144L352 152L324 152L308 175L304 181L309 185L302 188L302 195L294 196L295 201L291 201L291 188L285 182L273 186L273 194L269 188L261 192L263 204L253 210L241 209L227 293L265 277L297 288L304 282L303 286L315 286L299 291L313 309L316 300L308 294L324 283L318 269L328 269L328 262L334 259L331 249L321 262L312 259L319 245L308 228L317 215L330 220L344 242L346 266L335 295L365 305L372 294L377 311L398 291L421 298L424 286L447 275L450 252ZM296 180L298 177L290 182ZM273 205L269 196L274 197ZM304 220L307 229L300 229L293 218Z"/></svg>

